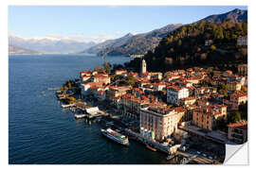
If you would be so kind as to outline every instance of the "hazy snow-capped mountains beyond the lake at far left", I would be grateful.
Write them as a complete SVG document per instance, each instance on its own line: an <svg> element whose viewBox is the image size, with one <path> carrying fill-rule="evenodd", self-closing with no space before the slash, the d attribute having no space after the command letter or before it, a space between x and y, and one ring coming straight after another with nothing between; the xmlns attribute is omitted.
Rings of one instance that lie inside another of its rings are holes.
<svg viewBox="0 0 256 170"><path fill-rule="evenodd" d="M46 54L77 53L84 48L95 45L95 42L76 42L73 40L55 39L24 39L17 36L9 36L9 44L28 48Z"/></svg>

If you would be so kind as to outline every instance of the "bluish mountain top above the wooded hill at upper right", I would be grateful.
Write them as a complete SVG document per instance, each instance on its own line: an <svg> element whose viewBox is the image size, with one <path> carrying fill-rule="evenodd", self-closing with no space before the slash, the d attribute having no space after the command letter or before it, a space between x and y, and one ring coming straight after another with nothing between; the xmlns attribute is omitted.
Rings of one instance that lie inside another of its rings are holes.
<svg viewBox="0 0 256 170"><path fill-rule="evenodd" d="M209 21L211 23L222 23L224 20L231 19L234 23L241 21L247 22L247 10L235 8L227 13L210 15L200 21Z"/></svg>

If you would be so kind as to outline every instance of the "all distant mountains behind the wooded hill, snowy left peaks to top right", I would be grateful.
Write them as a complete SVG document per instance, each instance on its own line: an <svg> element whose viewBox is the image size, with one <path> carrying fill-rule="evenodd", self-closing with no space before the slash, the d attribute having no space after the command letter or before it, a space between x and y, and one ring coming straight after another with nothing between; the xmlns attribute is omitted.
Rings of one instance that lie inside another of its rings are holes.
<svg viewBox="0 0 256 170"><path fill-rule="evenodd" d="M223 14L210 15L200 21L219 23L225 20L232 20L238 23L241 20L247 22L247 10L235 8ZM195 23L197 23L195 22ZM107 40L101 43L95 42L76 42L73 40L51 40L51 39L24 39L17 36L9 36L9 44L27 50L38 51L39 53L79 53L97 54L99 56L129 56L146 54L148 51L155 51L163 37L174 31L182 24L172 24L152 30L147 33L133 35L128 33L125 36ZM15 48L17 49L17 48Z"/></svg>

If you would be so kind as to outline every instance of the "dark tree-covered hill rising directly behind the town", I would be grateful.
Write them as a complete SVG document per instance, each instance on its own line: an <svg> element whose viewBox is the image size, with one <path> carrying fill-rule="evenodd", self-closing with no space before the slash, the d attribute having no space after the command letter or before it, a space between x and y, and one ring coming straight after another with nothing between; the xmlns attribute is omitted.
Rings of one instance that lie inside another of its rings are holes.
<svg viewBox="0 0 256 170"><path fill-rule="evenodd" d="M247 63L247 46L238 46L237 38L247 36L247 23L234 23L227 19L222 23L201 21L180 26L163 38L144 59L150 71L168 71L192 66L216 66L232 71L238 63ZM206 45L206 41L211 41ZM140 59L126 63L139 69Z"/></svg>

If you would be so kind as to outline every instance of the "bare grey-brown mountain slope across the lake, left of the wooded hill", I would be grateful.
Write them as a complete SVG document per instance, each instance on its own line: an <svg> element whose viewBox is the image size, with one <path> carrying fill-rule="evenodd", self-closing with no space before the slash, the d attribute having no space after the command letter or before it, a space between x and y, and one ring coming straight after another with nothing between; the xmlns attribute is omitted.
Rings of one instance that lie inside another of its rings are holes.
<svg viewBox="0 0 256 170"><path fill-rule="evenodd" d="M132 35L131 33L122 38L102 42L89 48L88 53L97 53L100 56L129 56L135 54L146 54L149 50L154 50L160 40L175 28L182 26L168 25L155 29L148 33Z"/></svg>

